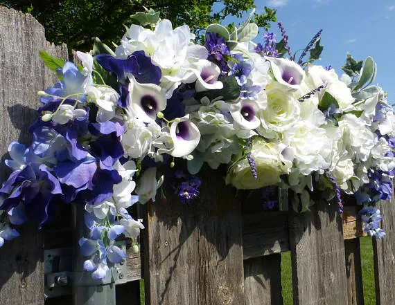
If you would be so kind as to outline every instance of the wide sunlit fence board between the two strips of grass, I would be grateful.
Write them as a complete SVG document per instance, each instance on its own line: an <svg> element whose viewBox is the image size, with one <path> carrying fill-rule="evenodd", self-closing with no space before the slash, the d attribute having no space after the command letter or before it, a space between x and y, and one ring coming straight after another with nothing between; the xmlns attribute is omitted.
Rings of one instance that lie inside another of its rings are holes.
<svg viewBox="0 0 395 305"><path fill-rule="evenodd" d="M317 202L310 212L290 212L289 225L294 304L345 304L345 254L337 206Z"/></svg>

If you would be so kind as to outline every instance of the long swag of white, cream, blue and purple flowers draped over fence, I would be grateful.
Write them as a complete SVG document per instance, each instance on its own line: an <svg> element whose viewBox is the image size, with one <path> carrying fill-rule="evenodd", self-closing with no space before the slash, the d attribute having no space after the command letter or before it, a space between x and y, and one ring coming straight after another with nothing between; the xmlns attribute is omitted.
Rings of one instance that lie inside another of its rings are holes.
<svg viewBox="0 0 395 305"><path fill-rule="evenodd" d="M173 29L158 15L134 15L142 26L130 26L115 51L96 39L91 53L77 52L78 66L41 53L60 82L38 93L32 145L9 145L0 247L19 235L13 225L42 226L60 201L76 201L90 229L80 239L84 269L103 279L125 257L116 237L134 241L144 228L128 207L155 201L158 166L179 158L188 173L177 170L173 187L186 203L199 194L204 163L226 165L227 184L291 190L299 212L313 192L340 212L340 194L353 194L364 230L385 236L375 204L392 196L395 117L372 84L371 57L362 66L347 55L339 78L313 64L322 30L296 59L280 23L279 43L266 33L255 44L251 15L233 33L212 24L199 45L188 26Z"/></svg>

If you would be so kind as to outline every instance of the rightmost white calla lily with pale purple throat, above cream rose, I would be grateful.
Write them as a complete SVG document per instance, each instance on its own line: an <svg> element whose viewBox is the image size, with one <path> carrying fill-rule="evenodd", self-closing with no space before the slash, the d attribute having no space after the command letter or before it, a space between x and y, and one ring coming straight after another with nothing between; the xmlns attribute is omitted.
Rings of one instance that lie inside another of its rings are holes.
<svg viewBox="0 0 395 305"><path fill-rule="evenodd" d="M286 58L266 57L270 61L272 73L279 84L289 89L299 89L305 73L301 66Z"/></svg>

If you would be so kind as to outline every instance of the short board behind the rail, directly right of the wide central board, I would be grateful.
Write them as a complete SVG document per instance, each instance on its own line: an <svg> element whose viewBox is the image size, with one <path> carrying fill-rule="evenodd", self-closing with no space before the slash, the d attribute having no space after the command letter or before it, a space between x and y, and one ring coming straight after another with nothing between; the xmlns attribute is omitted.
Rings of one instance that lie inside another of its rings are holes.
<svg viewBox="0 0 395 305"><path fill-rule="evenodd" d="M281 254L244 261L245 305L283 305Z"/></svg>

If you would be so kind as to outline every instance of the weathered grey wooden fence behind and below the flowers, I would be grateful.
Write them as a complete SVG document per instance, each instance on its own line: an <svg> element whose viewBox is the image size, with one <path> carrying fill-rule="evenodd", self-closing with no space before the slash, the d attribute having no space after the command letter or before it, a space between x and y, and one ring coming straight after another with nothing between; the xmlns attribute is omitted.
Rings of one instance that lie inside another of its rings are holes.
<svg viewBox="0 0 395 305"><path fill-rule="evenodd" d="M28 142L36 118L37 91L55 75L39 50L67 58L30 15L0 8L0 149L7 158L11 140ZM1 181L9 174L1 163ZM139 207L146 230L141 253L128 255L116 281L116 304L140 304L139 279L149 305L283 304L281 252L292 257L296 305L363 304L358 207L340 215L318 202L311 212L245 209L218 172L202 173L202 192L192 205L177 201L170 187L155 203ZM243 199L243 198L242 198ZM376 304L395 304L395 203L380 203L387 237L374 241ZM24 225L21 237L0 250L1 305L71 304L71 221L66 206L59 219L37 231ZM46 285L44 286L44 279ZM51 286L49 281L51 279ZM67 279L67 277L65 277ZM368 305L368 304L367 304Z"/></svg>

